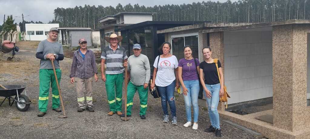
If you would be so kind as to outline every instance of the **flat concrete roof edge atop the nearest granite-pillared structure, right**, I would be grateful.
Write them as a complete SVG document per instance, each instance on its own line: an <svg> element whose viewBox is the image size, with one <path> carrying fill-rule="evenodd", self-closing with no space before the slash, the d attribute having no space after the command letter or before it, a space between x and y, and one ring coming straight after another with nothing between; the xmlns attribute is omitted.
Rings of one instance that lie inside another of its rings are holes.
<svg viewBox="0 0 310 139"><path fill-rule="evenodd" d="M233 31L240 29L250 29L250 28L259 28L259 27L268 27L268 26L277 26L277 25L288 25L288 24L309 24L310 19L292 19L278 22L268 22L268 23L256 23L251 25L235 26L235 27L223 27L223 28L214 28L201 30L199 33L209 33L209 32L223 32L223 31Z"/></svg>

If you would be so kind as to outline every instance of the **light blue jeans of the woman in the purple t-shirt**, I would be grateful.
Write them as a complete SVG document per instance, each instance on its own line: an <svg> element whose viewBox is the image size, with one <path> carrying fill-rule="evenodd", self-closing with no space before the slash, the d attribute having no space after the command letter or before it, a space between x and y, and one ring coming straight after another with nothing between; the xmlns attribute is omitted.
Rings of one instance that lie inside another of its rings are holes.
<svg viewBox="0 0 310 139"><path fill-rule="evenodd" d="M188 90L187 95L184 95L184 102L185 102L185 110L186 110L186 117L188 122L192 122L192 104L194 110L194 122L198 122L198 94L199 94L199 81L198 80L191 80L191 81L183 81L185 87ZM181 88L183 92L183 88Z"/></svg>

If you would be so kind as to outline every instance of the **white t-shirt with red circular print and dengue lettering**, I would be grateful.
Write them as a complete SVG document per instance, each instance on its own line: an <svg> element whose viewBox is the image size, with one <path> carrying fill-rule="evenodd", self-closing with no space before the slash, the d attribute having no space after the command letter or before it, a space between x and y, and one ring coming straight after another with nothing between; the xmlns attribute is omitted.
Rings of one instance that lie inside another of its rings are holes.
<svg viewBox="0 0 310 139"><path fill-rule="evenodd" d="M154 61L154 67L157 68L158 56ZM174 70L178 68L178 59L172 55L167 58L159 58L157 75L155 78L156 86L168 86L175 80Z"/></svg>

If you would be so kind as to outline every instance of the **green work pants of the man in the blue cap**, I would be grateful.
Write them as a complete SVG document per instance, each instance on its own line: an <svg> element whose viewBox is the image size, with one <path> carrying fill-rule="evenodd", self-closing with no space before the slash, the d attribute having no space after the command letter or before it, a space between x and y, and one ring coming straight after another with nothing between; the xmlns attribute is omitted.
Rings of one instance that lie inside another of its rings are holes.
<svg viewBox="0 0 310 139"><path fill-rule="evenodd" d="M133 105L133 98L135 92L138 91L140 99L140 115L145 115L148 106L148 87L144 88L143 85L136 86L129 82L127 86L127 115L131 115L131 107Z"/></svg>

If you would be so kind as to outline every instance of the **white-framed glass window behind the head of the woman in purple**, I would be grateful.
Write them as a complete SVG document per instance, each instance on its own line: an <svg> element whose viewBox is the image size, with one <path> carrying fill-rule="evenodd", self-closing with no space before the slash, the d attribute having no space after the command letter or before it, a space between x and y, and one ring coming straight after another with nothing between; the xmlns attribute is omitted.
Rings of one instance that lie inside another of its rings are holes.
<svg viewBox="0 0 310 139"><path fill-rule="evenodd" d="M172 54L175 55L178 60L184 58L183 48L186 45L191 46L193 57L199 58L198 35L172 38Z"/></svg>

